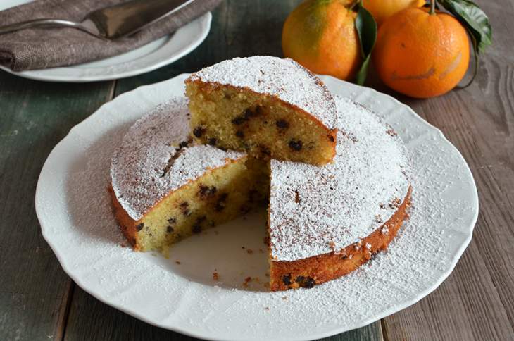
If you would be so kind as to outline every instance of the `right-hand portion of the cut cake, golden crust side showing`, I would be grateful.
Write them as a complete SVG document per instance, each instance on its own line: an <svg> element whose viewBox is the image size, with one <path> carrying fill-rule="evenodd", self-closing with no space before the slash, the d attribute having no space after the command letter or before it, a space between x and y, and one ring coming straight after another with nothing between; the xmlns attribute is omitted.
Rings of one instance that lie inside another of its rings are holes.
<svg viewBox="0 0 514 341"><path fill-rule="evenodd" d="M403 142L363 106L336 97L334 162L271 160L270 288L313 287L385 249L407 217Z"/></svg>

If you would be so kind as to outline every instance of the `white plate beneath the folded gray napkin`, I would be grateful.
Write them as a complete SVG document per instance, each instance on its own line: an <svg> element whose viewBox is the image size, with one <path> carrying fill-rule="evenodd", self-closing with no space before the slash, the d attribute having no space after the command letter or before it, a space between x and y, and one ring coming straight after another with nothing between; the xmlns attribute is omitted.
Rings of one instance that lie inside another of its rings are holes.
<svg viewBox="0 0 514 341"><path fill-rule="evenodd" d="M2 0L0 11L31 1ZM211 30L211 20L211 13L205 13L180 27L173 35L161 37L125 54L91 63L21 72L13 72L5 66L0 66L0 69L20 77L47 82L94 82L140 75L173 63L196 49Z"/></svg>

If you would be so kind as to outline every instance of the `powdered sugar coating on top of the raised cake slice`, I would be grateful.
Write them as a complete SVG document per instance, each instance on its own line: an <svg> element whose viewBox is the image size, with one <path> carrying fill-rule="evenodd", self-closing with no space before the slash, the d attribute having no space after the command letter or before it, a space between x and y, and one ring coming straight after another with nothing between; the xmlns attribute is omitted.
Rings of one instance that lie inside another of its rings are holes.
<svg viewBox="0 0 514 341"><path fill-rule="evenodd" d="M289 58L234 58L204 68L191 75L190 79L246 87L254 92L277 96L311 113L329 129L337 125L336 106L327 87L313 73Z"/></svg>

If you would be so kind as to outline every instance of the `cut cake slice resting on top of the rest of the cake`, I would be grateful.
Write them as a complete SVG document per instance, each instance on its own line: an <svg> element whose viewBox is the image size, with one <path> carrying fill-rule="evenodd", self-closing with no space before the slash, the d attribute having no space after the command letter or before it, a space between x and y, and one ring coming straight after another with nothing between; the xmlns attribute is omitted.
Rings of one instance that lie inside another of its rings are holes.
<svg viewBox="0 0 514 341"><path fill-rule="evenodd" d="M336 107L292 59L234 58L186 80L192 135L204 144L323 165L336 144Z"/></svg>

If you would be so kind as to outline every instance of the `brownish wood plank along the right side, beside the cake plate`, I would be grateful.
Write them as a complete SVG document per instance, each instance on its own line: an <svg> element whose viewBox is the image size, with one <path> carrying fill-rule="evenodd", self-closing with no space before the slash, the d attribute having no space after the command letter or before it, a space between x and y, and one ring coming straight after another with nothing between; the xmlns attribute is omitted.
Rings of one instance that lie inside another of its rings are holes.
<svg viewBox="0 0 514 341"><path fill-rule="evenodd" d="M467 89L409 104L468 161L479 192L473 240L455 271L420 303L382 321L385 340L512 340L514 335L514 5L478 1L494 46Z"/></svg>

